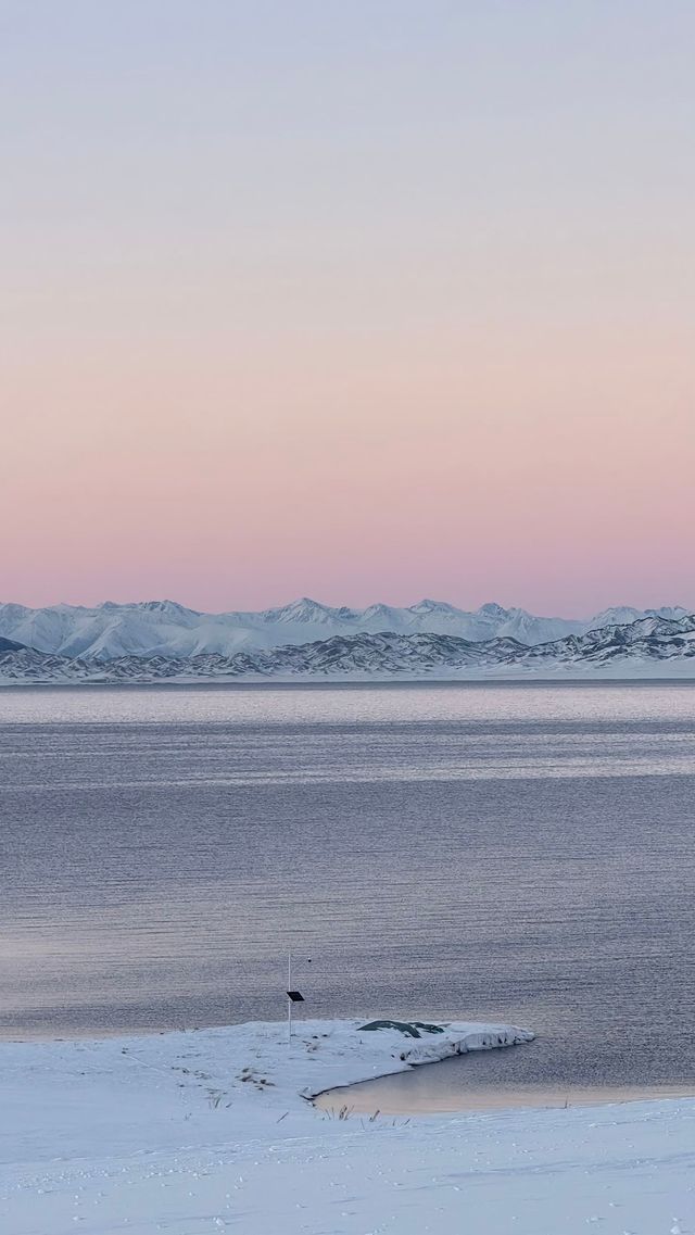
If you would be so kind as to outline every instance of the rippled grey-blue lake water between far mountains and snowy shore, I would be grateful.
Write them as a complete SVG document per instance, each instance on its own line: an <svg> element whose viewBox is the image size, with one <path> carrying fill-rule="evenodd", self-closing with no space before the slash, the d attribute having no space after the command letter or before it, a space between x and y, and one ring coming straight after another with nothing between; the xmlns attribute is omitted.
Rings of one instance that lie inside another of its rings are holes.
<svg viewBox="0 0 695 1235"><path fill-rule="evenodd" d="M483 1081L691 1084L694 820L689 684L2 690L0 1034L280 1018L291 946L538 1032Z"/></svg>

